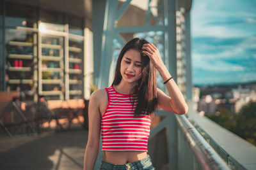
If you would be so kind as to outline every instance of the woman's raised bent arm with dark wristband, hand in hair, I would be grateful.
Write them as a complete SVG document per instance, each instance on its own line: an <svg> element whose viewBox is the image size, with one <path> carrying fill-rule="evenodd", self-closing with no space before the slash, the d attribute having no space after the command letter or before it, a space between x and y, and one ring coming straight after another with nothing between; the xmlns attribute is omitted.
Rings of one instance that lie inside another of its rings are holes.
<svg viewBox="0 0 256 170"><path fill-rule="evenodd" d="M154 67L156 67L157 71L161 74L163 81L171 78L171 74L163 63L161 59L160 53L156 46L151 43L145 44L142 47L143 53L147 55ZM157 99L158 106L163 110L171 111L173 113L177 113L179 115L183 115L188 112L188 104L186 103L182 92L180 92L179 87L173 80L173 78L165 83L166 89L169 92L169 96L164 94L164 92L160 89L157 89Z"/></svg>

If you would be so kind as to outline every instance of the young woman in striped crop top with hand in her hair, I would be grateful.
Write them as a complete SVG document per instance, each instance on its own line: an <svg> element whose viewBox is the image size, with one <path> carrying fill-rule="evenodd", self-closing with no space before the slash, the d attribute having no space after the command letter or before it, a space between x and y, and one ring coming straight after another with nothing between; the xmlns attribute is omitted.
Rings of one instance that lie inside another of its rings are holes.
<svg viewBox="0 0 256 170"><path fill-rule="evenodd" d="M156 69L170 97L157 89ZM150 119L156 108L179 115L188 111L156 46L145 39L131 39L118 56L111 87L97 90L90 97L84 169L91 170L95 165L100 132L100 169L154 169L147 155L147 143Z"/></svg>

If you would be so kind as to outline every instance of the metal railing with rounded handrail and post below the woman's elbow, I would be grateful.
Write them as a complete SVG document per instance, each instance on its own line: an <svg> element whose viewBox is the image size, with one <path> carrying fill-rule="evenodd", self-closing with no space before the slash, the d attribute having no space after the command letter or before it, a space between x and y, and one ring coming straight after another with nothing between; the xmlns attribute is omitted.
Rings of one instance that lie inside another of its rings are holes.
<svg viewBox="0 0 256 170"><path fill-rule="evenodd" d="M188 118L163 110L157 115L165 118L151 130L150 138L168 128L169 169L229 169Z"/></svg>

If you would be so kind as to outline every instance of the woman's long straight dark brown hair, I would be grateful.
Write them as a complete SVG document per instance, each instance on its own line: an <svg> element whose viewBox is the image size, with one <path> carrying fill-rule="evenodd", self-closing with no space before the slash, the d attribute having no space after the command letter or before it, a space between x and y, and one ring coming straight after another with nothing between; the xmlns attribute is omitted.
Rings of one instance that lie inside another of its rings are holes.
<svg viewBox="0 0 256 170"><path fill-rule="evenodd" d="M143 55L142 46L148 43L145 39L134 38L128 41L122 48L116 61L115 78L112 85L118 85L122 80L120 73L121 60L128 50L137 50L141 55L141 78L134 87L134 93L138 95L138 104L134 111L134 115L141 115L144 111L148 115L155 113L157 107L157 83L156 68L153 66L147 55Z"/></svg>

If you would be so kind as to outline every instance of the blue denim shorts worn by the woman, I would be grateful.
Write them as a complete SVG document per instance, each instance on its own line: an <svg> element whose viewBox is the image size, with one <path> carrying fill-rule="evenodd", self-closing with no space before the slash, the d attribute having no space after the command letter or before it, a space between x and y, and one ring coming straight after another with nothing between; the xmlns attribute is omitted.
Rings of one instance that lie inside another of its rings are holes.
<svg viewBox="0 0 256 170"><path fill-rule="evenodd" d="M101 162L100 170L154 170L151 159L148 155L147 158L138 160L136 162L127 163L124 165L110 164L104 160Z"/></svg>

